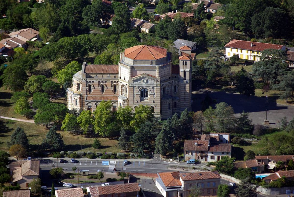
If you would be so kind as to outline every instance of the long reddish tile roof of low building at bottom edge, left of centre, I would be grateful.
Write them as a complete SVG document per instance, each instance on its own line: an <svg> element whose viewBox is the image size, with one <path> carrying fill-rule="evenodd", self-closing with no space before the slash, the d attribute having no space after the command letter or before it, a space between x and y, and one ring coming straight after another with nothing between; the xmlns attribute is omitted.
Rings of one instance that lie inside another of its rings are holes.
<svg viewBox="0 0 294 197"><path fill-rule="evenodd" d="M106 194L138 192L140 188L138 183L126 183L110 186L89 187L92 197L98 197Z"/></svg>

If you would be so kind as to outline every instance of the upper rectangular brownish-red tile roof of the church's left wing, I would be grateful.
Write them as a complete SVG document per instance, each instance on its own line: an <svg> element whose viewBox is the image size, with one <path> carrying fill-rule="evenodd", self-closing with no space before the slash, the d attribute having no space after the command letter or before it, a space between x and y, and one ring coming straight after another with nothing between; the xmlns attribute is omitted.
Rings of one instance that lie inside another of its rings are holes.
<svg viewBox="0 0 294 197"><path fill-rule="evenodd" d="M118 74L117 64L86 64L85 73Z"/></svg>

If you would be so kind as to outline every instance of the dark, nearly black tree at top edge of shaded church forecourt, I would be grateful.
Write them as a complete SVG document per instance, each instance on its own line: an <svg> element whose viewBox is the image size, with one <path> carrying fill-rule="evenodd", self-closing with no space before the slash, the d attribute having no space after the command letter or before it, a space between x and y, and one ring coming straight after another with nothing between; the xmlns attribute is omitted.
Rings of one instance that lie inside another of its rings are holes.
<svg viewBox="0 0 294 197"><path fill-rule="evenodd" d="M248 76L247 71L242 67L236 74L236 89L240 94L246 96L255 95L254 81Z"/></svg>

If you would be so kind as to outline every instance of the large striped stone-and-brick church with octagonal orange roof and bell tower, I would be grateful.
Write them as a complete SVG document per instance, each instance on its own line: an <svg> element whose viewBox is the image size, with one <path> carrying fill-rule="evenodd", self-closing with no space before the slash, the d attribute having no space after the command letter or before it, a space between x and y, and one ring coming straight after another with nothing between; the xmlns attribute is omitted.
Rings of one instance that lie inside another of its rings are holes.
<svg viewBox="0 0 294 197"><path fill-rule="evenodd" d="M118 107L150 106L156 117L167 119L175 112L191 110L191 58L179 57L173 65L166 49L139 45L120 54L118 65L82 65L67 89L70 110L95 111L102 100Z"/></svg>

